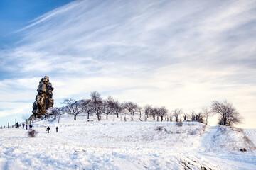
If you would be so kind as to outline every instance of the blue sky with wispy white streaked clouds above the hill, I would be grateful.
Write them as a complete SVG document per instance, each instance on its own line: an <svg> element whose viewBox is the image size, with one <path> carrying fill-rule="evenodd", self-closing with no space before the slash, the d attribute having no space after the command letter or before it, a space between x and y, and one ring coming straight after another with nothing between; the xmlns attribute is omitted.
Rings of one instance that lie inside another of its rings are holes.
<svg viewBox="0 0 256 170"><path fill-rule="evenodd" d="M55 106L95 90L186 113L226 99L256 128L256 1L50 2L0 2L1 125L31 114L47 75Z"/></svg>

